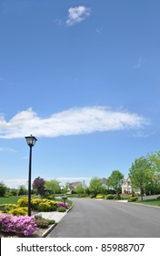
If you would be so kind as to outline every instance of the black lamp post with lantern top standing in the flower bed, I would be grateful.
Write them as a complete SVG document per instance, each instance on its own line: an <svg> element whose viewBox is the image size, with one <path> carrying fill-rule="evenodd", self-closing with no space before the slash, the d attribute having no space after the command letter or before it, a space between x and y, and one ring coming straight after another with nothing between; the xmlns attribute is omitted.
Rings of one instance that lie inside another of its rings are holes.
<svg viewBox="0 0 160 256"><path fill-rule="evenodd" d="M26 143L30 147L29 151L29 176L28 176L28 216L31 216L31 168L32 168L32 147L37 141L36 138L31 134L25 137Z"/></svg>

